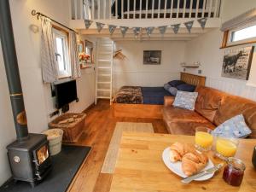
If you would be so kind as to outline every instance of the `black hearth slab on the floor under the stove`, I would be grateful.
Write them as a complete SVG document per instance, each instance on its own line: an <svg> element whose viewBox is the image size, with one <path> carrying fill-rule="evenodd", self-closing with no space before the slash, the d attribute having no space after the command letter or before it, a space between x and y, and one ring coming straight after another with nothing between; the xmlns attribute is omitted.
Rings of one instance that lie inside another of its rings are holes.
<svg viewBox="0 0 256 192"><path fill-rule="evenodd" d="M29 183L10 180L0 192L65 192L89 152L90 147L62 145L61 153L52 156L53 169L42 183L32 189Z"/></svg>

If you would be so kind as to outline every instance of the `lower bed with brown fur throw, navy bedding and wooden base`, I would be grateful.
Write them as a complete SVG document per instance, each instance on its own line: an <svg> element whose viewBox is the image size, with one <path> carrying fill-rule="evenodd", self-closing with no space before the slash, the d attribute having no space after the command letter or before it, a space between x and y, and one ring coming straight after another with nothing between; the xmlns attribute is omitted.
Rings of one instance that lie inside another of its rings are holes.
<svg viewBox="0 0 256 192"><path fill-rule="evenodd" d="M206 77L181 73L180 79L195 86L205 85ZM162 119L161 110L165 96L172 96L163 87L125 86L113 100L114 117Z"/></svg>

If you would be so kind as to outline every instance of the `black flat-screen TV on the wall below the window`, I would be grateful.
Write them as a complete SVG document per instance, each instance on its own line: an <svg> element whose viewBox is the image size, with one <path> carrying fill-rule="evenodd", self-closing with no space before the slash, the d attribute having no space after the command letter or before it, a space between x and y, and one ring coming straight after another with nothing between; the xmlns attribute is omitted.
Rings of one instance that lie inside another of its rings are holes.
<svg viewBox="0 0 256 192"><path fill-rule="evenodd" d="M56 108L78 99L76 80L55 84Z"/></svg>

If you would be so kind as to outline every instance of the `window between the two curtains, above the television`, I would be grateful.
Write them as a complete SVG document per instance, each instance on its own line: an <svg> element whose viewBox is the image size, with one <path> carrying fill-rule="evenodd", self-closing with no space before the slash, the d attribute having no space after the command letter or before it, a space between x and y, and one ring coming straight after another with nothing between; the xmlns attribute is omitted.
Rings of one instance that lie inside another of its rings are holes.
<svg viewBox="0 0 256 192"><path fill-rule="evenodd" d="M67 33L53 28L53 38L55 40L55 59L58 64L59 78L70 77L71 69L68 56Z"/></svg>

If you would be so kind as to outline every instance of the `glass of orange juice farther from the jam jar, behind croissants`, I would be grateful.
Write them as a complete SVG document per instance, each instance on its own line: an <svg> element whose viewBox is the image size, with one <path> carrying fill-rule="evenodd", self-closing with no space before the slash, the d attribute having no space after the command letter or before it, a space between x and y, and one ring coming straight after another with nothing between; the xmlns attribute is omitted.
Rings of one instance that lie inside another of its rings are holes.
<svg viewBox="0 0 256 192"><path fill-rule="evenodd" d="M213 137L212 130L207 127L196 127L195 129L195 148L198 151L205 152L212 148Z"/></svg>

